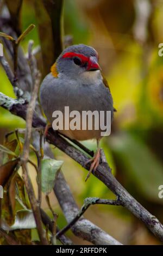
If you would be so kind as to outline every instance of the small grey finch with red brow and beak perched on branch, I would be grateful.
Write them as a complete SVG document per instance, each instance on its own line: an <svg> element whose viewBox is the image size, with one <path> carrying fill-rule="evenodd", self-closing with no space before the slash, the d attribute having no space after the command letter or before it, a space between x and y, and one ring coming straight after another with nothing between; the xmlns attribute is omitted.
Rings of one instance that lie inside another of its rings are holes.
<svg viewBox="0 0 163 256"><path fill-rule="evenodd" d="M112 122L116 110L108 82L99 66L98 52L84 44L71 45L63 50L51 67L51 72L42 81L40 103L47 117L48 127L52 126L53 112L64 112L65 106L69 106L70 111L76 110L79 113L88 110L110 111ZM101 129L96 130L93 126L92 130L62 129L59 132L78 141L96 139L97 151L85 163L91 163L86 181L101 161Z"/></svg>

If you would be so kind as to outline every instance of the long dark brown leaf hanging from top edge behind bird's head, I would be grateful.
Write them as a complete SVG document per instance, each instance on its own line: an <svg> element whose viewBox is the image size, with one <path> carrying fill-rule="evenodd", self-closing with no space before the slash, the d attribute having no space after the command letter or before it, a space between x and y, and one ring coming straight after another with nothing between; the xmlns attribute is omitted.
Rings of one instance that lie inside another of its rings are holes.
<svg viewBox="0 0 163 256"><path fill-rule="evenodd" d="M35 13L43 59L43 76L49 73L51 66L62 51L62 5L62 0L35 0Z"/></svg>

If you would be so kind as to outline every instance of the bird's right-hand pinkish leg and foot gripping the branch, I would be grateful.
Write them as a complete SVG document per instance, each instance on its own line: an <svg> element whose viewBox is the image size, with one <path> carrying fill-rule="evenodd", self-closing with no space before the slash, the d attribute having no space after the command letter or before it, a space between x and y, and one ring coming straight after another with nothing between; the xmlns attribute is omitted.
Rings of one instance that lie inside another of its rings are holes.
<svg viewBox="0 0 163 256"><path fill-rule="evenodd" d="M85 165L87 165L88 163L92 162L91 166L90 166L89 173L87 174L85 181L87 181L87 179L90 177L92 171L96 171L96 169L99 165L100 159L101 159L101 150L99 147L99 139L98 139L97 140L97 151L95 153L95 156L85 163Z"/></svg>

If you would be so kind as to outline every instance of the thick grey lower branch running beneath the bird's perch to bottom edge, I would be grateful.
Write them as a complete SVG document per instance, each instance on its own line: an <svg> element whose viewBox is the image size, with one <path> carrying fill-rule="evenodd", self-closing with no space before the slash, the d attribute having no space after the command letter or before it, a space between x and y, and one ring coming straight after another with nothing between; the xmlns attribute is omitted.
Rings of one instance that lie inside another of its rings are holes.
<svg viewBox="0 0 163 256"><path fill-rule="evenodd" d="M54 191L67 222L71 222L79 209L61 172L55 182ZM90 241L93 245L121 245L114 237L83 217L73 225L72 231L74 235Z"/></svg>

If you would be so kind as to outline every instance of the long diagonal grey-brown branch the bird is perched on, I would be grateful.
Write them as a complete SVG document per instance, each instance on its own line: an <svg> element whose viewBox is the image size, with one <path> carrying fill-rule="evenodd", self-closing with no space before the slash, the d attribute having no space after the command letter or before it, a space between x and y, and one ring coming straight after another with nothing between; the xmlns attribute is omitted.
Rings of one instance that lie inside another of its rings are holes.
<svg viewBox="0 0 163 256"><path fill-rule="evenodd" d="M1 98L3 99L4 94L0 93L0 105L1 105ZM9 98L9 97L8 97ZM9 98L9 103L13 102L13 99ZM5 97L5 103L7 103L7 98ZM15 103L16 100L15 100ZM8 104L7 104L8 105ZM14 112L14 114L24 118L26 115L26 105L17 103L13 104L8 109L10 112ZM5 108L5 105L3 105ZM42 126L43 124L43 126ZM33 118L33 127L45 127L45 123L38 117L34 116ZM84 166L84 163L89 160L89 157L86 156L83 152L78 150L78 148L74 147L70 142L65 140L61 135L59 135L57 132L54 132L53 130L48 131L47 134L47 141L54 146L57 146L61 151L65 152L68 156L70 156L72 159L76 160L77 163ZM86 166L86 170L89 170L90 166ZM153 216L151 213L149 213L140 203L138 203L123 186L116 180L116 178L111 174L111 170L109 165L106 165L106 163L100 164L96 170L96 172L92 172L93 175L95 175L99 180L101 180L106 187L108 187L117 197L120 201L120 205L123 207L126 207L133 215L135 215L137 218L139 218L151 232L158 237L161 241L163 241L163 226L159 222L159 220ZM55 193L57 193L57 189L55 190ZM60 198L58 195L59 202L62 200L66 200L65 198ZM62 209L64 210L64 209ZM64 211L65 213L65 211ZM74 216L75 217L75 216ZM72 220L69 219L69 221Z"/></svg>

